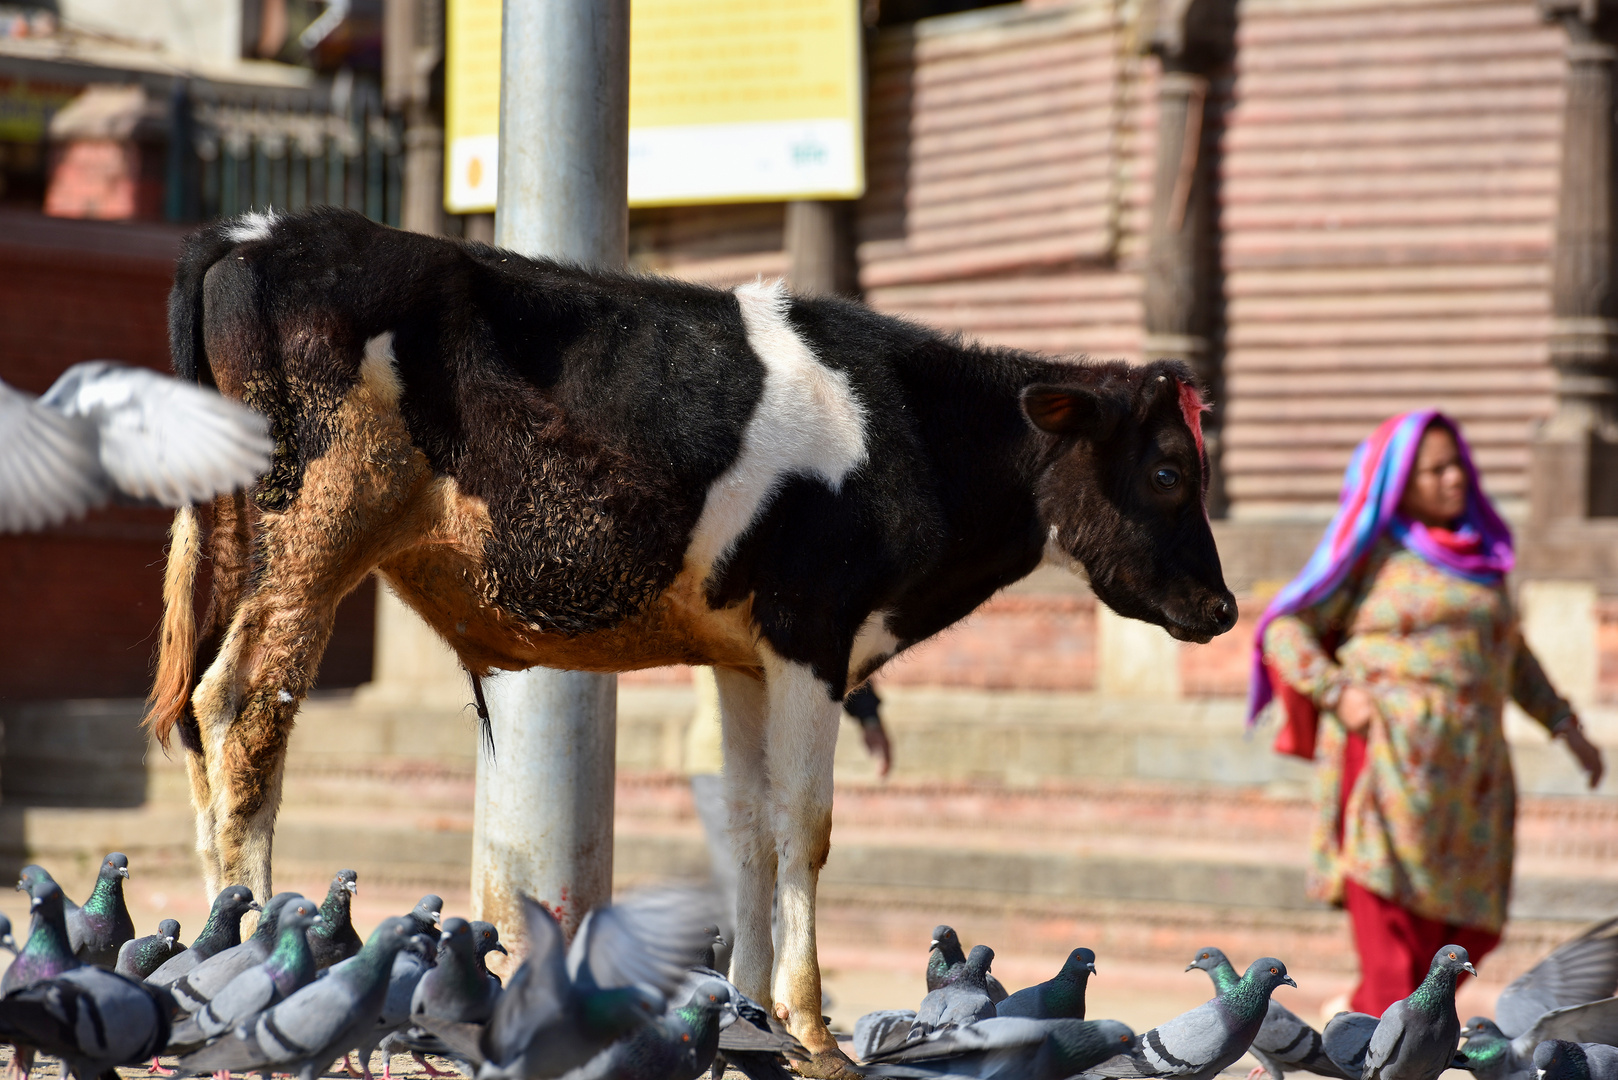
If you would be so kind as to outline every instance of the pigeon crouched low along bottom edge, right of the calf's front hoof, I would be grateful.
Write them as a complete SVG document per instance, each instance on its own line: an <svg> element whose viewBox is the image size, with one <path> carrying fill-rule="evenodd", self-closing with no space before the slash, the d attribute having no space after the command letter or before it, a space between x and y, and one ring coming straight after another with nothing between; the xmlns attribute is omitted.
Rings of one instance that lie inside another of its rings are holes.
<svg viewBox="0 0 1618 1080"><path fill-rule="evenodd" d="M925 1038L861 1067L870 1077L1066 1080L1137 1049L1116 1020L993 1017Z"/></svg>

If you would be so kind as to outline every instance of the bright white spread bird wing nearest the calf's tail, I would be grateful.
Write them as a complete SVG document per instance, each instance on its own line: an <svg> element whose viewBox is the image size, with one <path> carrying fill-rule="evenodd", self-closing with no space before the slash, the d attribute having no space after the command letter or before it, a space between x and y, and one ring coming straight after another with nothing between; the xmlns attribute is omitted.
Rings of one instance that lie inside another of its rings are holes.
<svg viewBox="0 0 1618 1080"><path fill-rule="evenodd" d="M113 484L165 507L248 487L275 449L252 410L144 368L74 364L40 402L95 424Z"/></svg>

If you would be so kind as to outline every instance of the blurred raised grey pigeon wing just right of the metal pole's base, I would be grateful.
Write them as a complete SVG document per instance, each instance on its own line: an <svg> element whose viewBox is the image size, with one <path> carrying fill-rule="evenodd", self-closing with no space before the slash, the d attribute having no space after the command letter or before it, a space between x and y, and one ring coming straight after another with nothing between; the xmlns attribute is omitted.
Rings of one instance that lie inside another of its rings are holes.
<svg viewBox="0 0 1618 1080"><path fill-rule="evenodd" d="M665 997L712 941L714 897L702 889L642 889L584 916L568 952L581 986L644 986Z"/></svg>

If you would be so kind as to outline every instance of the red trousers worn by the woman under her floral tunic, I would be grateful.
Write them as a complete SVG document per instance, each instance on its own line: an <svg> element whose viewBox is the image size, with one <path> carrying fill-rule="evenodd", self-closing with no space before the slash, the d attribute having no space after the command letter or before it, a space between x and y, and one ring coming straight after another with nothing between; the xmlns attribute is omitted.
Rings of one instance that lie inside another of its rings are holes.
<svg viewBox="0 0 1618 1080"><path fill-rule="evenodd" d="M1349 735L1345 751L1338 844L1343 840L1341 810L1366 767L1364 735ZM1348 1007L1374 1017L1421 984L1434 954L1443 946L1461 946L1477 963L1500 944L1497 933L1425 918L1353 879L1343 881L1343 907L1354 926L1354 949L1359 952L1359 986Z"/></svg>

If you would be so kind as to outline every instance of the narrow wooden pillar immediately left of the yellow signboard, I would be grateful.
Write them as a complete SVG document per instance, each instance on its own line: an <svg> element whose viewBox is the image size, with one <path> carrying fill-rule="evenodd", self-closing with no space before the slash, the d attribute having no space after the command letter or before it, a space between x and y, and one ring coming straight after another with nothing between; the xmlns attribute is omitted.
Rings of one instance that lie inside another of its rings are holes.
<svg viewBox="0 0 1618 1080"><path fill-rule="evenodd" d="M443 60L443 0L385 0L382 94L404 117L404 199L400 223L442 235L443 118L432 107L432 73Z"/></svg>

